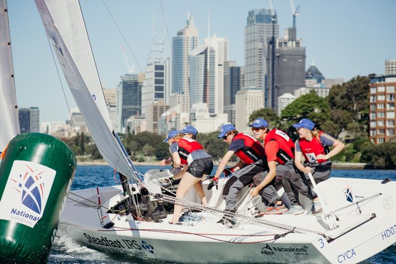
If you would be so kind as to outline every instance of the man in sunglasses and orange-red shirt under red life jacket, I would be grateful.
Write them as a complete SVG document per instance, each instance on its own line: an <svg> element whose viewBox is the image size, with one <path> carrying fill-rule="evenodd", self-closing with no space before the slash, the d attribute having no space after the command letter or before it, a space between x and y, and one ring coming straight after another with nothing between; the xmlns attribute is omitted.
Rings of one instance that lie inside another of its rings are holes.
<svg viewBox="0 0 396 264"><path fill-rule="evenodd" d="M249 127L253 131L253 137L263 141L269 168L269 170L254 175L255 187L251 190L250 196L261 195L261 200L266 205L262 214L285 212L291 206L289 199L285 193L281 200L277 194L276 186L281 186L282 175L293 169L294 143L285 132L278 129L270 131L267 120L263 118L257 118Z"/></svg>

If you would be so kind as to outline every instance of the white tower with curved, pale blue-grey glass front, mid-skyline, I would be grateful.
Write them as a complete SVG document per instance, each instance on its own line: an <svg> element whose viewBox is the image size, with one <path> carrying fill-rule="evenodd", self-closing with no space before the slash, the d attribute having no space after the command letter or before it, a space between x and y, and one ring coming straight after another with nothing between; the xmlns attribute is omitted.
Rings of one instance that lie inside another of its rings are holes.
<svg viewBox="0 0 396 264"><path fill-rule="evenodd" d="M210 113L224 112L224 63L228 40L216 34L190 54L190 104L206 103Z"/></svg>

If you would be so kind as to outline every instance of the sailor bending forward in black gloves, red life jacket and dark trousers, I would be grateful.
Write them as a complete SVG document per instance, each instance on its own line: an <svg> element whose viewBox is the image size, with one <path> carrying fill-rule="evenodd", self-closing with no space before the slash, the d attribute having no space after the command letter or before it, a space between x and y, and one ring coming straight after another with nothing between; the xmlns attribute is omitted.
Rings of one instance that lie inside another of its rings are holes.
<svg viewBox="0 0 396 264"><path fill-rule="evenodd" d="M226 201L226 211L235 212L235 205L238 192L245 186L253 182L253 176L264 170L267 162L264 154L264 148L253 137L238 133L235 126L232 124L223 125L220 129L218 138L223 138L229 147L227 153L221 159L216 173L209 183L207 189L210 190L216 185L220 174L224 172L234 173L226 182L223 189L223 198ZM233 155L240 158L240 161L233 167L225 169L225 166ZM264 159L264 161L263 161ZM223 216L218 223L235 224L235 220Z"/></svg>

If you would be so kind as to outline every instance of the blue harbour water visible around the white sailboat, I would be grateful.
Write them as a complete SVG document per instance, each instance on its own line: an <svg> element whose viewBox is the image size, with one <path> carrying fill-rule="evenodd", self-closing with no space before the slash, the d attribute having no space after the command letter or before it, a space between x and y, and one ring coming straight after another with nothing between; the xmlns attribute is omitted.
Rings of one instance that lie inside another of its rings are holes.
<svg viewBox="0 0 396 264"><path fill-rule="evenodd" d="M141 173L146 173L149 169L160 168L156 166L137 166ZM216 167L213 169L215 170ZM214 172L214 171L213 171ZM396 181L396 170L342 170L334 169L334 177L351 177L365 179L390 178ZM90 187L101 187L117 185L118 175L114 177L114 171L109 166L79 166L74 177L72 190L85 189ZM215 260L214 260L215 261ZM133 264L169 264L167 262L144 261L134 257L127 257L120 254L105 254L96 250L80 246L72 238L62 235L59 231L53 247L51 249L48 263L53 264L74 264L74 263L133 263ZM395 264L396 244L378 253L377 255L362 262L364 264Z"/></svg>

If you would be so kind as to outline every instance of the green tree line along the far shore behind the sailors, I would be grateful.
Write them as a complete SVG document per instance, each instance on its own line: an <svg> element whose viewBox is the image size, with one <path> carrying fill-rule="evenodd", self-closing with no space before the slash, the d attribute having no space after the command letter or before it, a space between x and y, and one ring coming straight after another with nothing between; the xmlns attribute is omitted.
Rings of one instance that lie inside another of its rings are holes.
<svg viewBox="0 0 396 264"><path fill-rule="evenodd" d="M271 108L255 110L249 116L249 123L257 117L265 118L271 129L283 130L294 140L298 135L293 124L302 118L311 119L319 129L331 135L343 127L341 140L347 143L347 149L333 157L333 160L365 162L376 168L396 168L396 142L374 145L368 138L369 84L369 76L356 76L342 85L333 86L326 98L317 96L314 91L300 96L282 110L281 116ZM228 147L217 138L218 133L198 133L197 136L197 141L215 161L223 157ZM163 142L165 135L145 131L136 135L128 132L120 136L132 160L147 160L143 157L160 160L170 156L168 144ZM94 142L84 133L64 141L78 156L101 158Z"/></svg>

